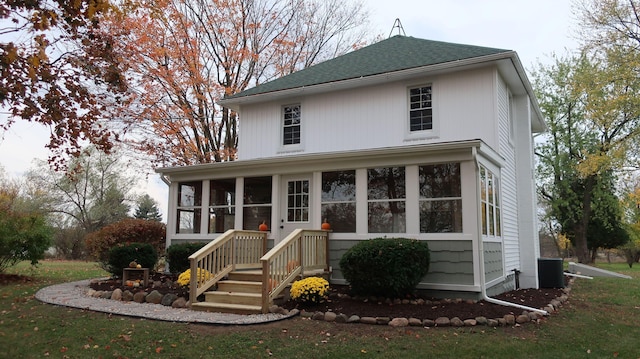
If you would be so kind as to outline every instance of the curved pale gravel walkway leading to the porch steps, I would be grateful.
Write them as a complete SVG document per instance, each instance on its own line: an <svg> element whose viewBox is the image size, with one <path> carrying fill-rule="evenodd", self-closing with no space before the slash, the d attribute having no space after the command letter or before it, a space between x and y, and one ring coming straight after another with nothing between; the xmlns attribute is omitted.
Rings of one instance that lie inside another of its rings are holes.
<svg viewBox="0 0 640 359"><path fill-rule="evenodd" d="M201 312L190 309L176 309L161 304L123 302L111 299L93 298L86 295L90 280L63 283L42 288L36 293L41 302L96 312L125 315L169 322L243 325L275 322L293 315L283 314L226 314Z"/></svg>

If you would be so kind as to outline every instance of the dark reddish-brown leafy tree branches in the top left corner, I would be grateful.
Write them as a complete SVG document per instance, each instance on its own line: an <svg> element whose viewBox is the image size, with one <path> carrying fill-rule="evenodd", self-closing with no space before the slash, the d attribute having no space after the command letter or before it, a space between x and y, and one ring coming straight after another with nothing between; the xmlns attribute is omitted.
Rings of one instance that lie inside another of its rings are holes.
<svg viewBox="0 0 640 359"><path fill-rule="evenodd" d="M54 167L87 142L108 152L122 132L104 117L127 91L101 26L112 10L108 0L0 1L0 130L17 120L48 126Z"/></svg>

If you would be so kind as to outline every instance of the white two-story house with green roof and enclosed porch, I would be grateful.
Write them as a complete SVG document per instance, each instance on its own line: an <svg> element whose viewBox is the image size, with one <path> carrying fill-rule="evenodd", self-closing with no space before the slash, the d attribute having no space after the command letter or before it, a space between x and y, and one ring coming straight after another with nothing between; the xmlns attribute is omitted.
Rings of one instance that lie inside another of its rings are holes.
<svg viewBox="0 0 640 359"><path fill-rule="evenodd" d="M534 133L545 129L514 51L394 36L221 100L238 160L160 168L167 245L265 222L277 244L331 224L342 254L374 237L427 241L419 288L480 298L537 287Z"/></svg>

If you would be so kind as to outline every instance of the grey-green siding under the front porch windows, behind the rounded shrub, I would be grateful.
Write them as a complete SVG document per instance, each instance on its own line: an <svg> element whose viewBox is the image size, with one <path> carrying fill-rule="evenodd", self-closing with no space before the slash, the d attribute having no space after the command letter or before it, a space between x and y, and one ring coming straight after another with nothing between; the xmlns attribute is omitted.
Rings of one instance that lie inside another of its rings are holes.
<svg viewBox="0 0 640 359"><path fill-rule="evenodd" d="M473 285L473 249L471 241L428 241L431 251L429 273L420 284ZM344 279L340 270L340 258L353 241L332 241L329 259L333 267L333 279Z"/></svg>

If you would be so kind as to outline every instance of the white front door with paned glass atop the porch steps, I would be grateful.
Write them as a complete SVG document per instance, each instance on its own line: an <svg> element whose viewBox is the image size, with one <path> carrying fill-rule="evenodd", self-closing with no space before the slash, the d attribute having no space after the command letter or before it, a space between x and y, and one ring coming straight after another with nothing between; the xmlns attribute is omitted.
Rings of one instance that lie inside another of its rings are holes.
<svg viewBox="0 0 640 359"><path fill-rule="evenodd" d="M297 228L311 228L311 175L282 177L281 238Z"/></svg>

